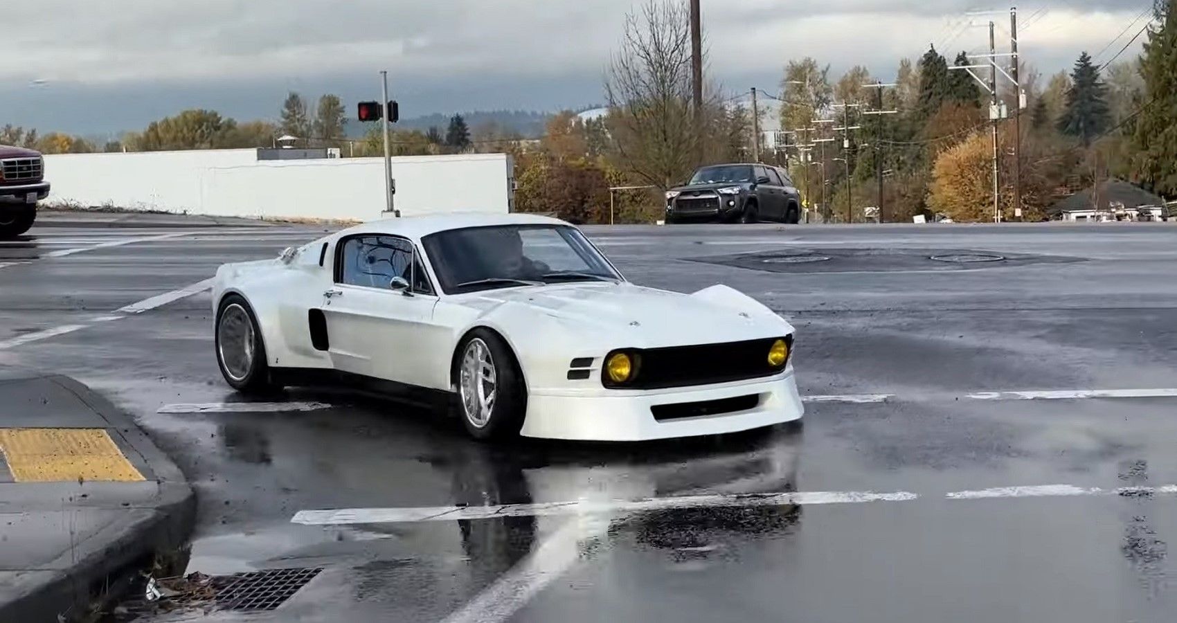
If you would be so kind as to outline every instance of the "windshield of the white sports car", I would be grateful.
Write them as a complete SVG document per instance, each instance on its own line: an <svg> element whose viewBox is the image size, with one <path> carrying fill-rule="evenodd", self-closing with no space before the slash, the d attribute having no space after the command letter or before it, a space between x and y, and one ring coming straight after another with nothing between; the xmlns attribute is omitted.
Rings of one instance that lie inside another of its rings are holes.
<svg viewBox="0 0 1177 623"><path fill-rule="evenodd" d="M465 227L421 239L447 294L621 277L576 227L497 225Z"/></svg>

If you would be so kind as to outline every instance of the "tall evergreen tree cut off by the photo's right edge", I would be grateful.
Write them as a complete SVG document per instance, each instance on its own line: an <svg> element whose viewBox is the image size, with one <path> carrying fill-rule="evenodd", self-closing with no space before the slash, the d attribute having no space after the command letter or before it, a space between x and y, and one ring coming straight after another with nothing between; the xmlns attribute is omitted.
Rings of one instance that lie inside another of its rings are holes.
<svg viewBox="0 0 1177 623"><path fill-rule="evenodd" d="M1157 15L1162 26L1149 33L1141 59L1144 101L1133 119L1132 165L1145 186L1172 197L1177 194L1177 11L1158 4Z"/></svg>

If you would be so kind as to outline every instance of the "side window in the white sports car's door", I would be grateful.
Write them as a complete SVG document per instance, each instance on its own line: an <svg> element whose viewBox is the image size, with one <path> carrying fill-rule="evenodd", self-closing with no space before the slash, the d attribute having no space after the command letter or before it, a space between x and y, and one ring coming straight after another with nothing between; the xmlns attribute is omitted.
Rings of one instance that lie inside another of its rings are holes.
<svg viewBox="0 0 1177 623"><path fill-rule="evenodd" d="M414 258L408 240L394 236L353 236L344 240L337 259L337 283L387 290L393 277L412 279L413 292L433 293L420 254Z"/></svg>

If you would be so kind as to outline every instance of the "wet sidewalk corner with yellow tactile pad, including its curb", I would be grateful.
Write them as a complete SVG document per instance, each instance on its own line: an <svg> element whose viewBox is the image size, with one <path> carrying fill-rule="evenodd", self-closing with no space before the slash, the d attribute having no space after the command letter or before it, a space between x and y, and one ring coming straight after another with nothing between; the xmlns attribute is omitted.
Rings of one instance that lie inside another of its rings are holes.
<svg viewBox="0 0 1177 623"><path fill-rule="evenodd" d="M180 550L194 515L129 416L68 377L0 366L0 621L85 617Z"/></svg>

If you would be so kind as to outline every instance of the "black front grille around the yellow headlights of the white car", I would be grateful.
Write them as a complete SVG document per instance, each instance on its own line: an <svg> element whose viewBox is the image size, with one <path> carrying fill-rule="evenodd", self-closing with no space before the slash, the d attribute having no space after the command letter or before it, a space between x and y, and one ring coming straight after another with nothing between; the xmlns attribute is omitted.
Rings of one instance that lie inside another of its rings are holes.
<svg viewBox="0 0 1177 623"><path fill-rule="evenodd" d="M656 390L769 377L782 370L769 365L769 349L777 339L784 339L789 344L790 351L792 350L793 338L789 336L725 344L625 351L632 353L638 364L637 377L633 382L614 384L605 376L604 370L601 379L606 386L617 389Z"/></svg>

